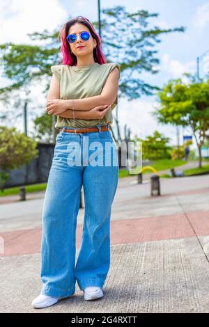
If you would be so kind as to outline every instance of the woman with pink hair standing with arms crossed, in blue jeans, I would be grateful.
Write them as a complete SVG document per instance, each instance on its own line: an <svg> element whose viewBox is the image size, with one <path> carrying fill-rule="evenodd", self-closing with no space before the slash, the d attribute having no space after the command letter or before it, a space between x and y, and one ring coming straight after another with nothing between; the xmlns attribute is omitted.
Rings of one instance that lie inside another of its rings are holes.
<svg viewBox="0 0 209 327"><path fill-rule="evenodd" d="M51 67L47 111L57 115L60 132L42 210L42 289L32 302L34 308L72 296L76 280L85 300L103 296L110 265L111 205L118 186L118 156L109 125L121 67L107 63L100 36L85 17L65 23L59 36L63 65ZM82 186L84 227L75 266Z"/></svg>

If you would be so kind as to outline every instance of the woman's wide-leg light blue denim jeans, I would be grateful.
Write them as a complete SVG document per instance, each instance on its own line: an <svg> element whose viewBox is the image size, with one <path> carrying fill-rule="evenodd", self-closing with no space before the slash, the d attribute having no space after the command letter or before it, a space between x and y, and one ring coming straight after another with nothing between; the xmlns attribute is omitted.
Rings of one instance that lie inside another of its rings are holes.
<svg viewBox="0 0 209 327"><path fill-rule="evenodd" d="M110 266L111 205L118 186L118 154L110 131L56 136L42 209L41 294L65 297L104 285ZM69 127L68 127L69 129ZM76 228L84 188L84 226L77 263Z"/></svg>

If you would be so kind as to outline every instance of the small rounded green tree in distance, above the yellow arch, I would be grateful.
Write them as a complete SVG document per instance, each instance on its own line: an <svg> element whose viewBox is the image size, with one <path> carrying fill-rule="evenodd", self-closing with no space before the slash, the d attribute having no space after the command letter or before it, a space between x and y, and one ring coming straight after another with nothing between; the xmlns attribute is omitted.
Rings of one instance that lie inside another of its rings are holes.
<svg viewBox="0 0 209 327"><path fill-rule="evenodd" d="M170 138L164 137L159 131L146 136L142 142L142 158L149 160L165 159L171 157L171 147L168 145Z"/></svg>

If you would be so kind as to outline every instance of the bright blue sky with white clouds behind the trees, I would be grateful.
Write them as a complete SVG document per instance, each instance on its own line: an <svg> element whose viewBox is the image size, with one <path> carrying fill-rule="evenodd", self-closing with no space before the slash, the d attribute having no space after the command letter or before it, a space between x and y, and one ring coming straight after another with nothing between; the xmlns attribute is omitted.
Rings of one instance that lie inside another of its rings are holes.
<svg viewBox="0 0 209 327"><path fill-rule="evenodd" d="M89 4L91 3L91 6ZM162 29L185 26L185 33L169 33L161 35L161 42L156 45L157 57L160 58L158 74L148 72L141 77L146 83L162 88L169 79L182 77L184 72L196 72L196 58L209 50L209 1L206 0L105 0L100 1L101 8L125 6L125 9L134 13L139 9L148 10L150 13L158 13L158 17L150 19L152 24ZM92 22L98 19L97 0L0 0L0 34L1 44L5 42L34 44L26 35L34 31L42 32L44 29L53 31L68 19L69 15L75 17L84 15ZM101 17L102 18L102 17ZM200 74L208 70L207 56L201 60ZM54 63L53 63L54 64ZM2 77L0 67L0 87L8 85L9 81ZM44 81L39 86L31 86L31 94L36 98L36 104L40 112L45 111L46 99L42 95ZM154 110L155 96L142 96L139 99L127 101L121 98L118 101L118 118L121 125L122 135L125 124L132 131L132 136L141 138L153 134L156 129L164 136L171 138L170 144L176 145L176 127L161 125L150 114ZM30 104L29 104L30 110ZM31 106L31 110L33 106ZM114 109L115 111L116 109ZM113 114L115 115L113 111ZM17 120L15 127L23 131L22 118ZM114 126L114 125L113 125ZM33 129L32 119L29 121L29 131ZM189 129L180 127L180 144L183 143L183 135L190 135Z"/></svg>

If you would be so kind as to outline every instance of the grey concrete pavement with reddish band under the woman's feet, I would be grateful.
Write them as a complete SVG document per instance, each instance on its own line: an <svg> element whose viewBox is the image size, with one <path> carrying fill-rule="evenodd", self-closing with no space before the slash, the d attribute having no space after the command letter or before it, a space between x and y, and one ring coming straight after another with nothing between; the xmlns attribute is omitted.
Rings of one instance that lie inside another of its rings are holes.
<svg viewBox="0 0 209 327"><path fill-rule="evenodd" d="M41 288L42 196L0 205L1 312L209 312L209 175L119 180L111 214L111 266L104 297L75 296L46 309L31 301ZM43 194L42 194L43 195ZM77 254L84 208L77 217Z"/></svg>

